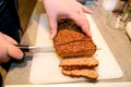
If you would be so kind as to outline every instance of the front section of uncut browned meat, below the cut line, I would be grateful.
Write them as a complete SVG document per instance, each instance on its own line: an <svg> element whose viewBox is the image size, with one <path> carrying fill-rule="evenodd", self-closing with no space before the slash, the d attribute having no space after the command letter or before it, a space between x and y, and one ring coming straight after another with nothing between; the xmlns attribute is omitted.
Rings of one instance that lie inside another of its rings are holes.
<svg viewBox="0 0 131 87"><path fill-rule="evenodd" d="M87 41L75 41L56 46L57 53L63 58L82 55L91 57L96 52L95 49L95 46Z"/></svg>

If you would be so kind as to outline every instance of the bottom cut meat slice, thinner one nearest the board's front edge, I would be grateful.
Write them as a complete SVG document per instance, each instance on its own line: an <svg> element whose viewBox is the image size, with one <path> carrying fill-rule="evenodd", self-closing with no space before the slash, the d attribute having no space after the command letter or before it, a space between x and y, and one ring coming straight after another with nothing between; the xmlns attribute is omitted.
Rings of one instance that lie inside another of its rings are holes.
<svg viewBox="0 0 131 87"><path fill-rule="evenodd" d="M70 77L86 77L90 79L96 79L98 77L97 72L93 69L71 70L71 71L62 70L62 74Z"/></svg>

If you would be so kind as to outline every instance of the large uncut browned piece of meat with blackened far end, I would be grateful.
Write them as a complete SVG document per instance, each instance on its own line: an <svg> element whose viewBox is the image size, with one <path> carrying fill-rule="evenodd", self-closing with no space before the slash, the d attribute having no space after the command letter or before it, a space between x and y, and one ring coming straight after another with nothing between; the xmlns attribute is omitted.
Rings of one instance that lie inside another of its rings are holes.
<svg viewBox="0 0 131 87"><path fill-rule="evenodd" d="M62 58L91 57L96 51L93 39L69 18L58 21L58 33L53 38L53 46L56 52Z"/></svg>

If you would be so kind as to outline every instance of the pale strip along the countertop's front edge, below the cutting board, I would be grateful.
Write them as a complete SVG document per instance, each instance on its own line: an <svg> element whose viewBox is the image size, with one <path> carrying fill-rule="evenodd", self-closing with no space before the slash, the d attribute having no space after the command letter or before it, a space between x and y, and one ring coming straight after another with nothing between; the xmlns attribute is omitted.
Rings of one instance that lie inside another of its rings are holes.
<svg viewBox="0 0 131 87"><path fill-rule="evenodd" d="M122 83L75 83L75 84L48 84L48 85L5 85L5 87L131 87L130 82Z"/></svg>

